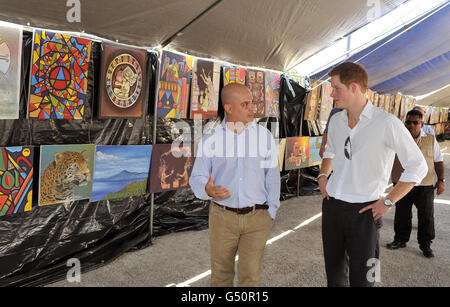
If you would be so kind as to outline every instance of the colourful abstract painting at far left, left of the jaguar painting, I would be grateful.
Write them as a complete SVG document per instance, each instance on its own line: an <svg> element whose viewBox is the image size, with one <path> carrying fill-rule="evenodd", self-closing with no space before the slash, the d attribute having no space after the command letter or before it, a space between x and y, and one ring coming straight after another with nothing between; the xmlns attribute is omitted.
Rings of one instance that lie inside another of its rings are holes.
<svg viewBox="0 0 450 307"><path fill-rule="evenodd" d="M0 148L0 216L30 211L33 147Z"/></svg>

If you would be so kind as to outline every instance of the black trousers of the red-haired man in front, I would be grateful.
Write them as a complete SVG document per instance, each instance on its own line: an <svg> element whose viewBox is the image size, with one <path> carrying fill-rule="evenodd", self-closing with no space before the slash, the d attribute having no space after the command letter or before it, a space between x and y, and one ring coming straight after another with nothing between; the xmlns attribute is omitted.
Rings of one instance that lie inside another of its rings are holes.
<svg viewBox="0 0 450 307"><path fill-rule="evenodd" d="M382 222L373 219L372 210L359 213L372 203L348 203L332 197L323 200L322 241L329 287L374 285L370 276L379 261Z"/></svg>

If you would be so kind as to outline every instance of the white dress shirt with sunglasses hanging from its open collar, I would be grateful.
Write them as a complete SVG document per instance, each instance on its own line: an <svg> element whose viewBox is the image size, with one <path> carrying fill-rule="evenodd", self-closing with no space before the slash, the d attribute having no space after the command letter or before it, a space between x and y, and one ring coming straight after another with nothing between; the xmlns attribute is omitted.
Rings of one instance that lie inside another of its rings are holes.
<svg viewBox="0 0 450 307"><path fill-rule="evenodd" d="M399 181L418 184L425 178L425 158L397 117L369 101L350 129L347 114L347 110L335 114L328 130L323 158L333 159L333 174L326 187L330 196L350 203L378 200L388 185L396 153L404 168ZM349 136L351 160L344 154Z"/></svg>

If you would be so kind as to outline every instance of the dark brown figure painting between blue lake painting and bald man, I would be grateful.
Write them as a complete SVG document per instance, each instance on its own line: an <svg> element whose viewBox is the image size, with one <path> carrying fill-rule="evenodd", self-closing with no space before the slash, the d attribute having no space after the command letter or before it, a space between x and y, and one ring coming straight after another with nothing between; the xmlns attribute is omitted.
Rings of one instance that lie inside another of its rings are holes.
<svg viewBox="0 0 450 307"><path fill-rule="evenodd" d="M157 144L153 147L150 170L150 193L189 187L194 165L193 145Z"/></svg>

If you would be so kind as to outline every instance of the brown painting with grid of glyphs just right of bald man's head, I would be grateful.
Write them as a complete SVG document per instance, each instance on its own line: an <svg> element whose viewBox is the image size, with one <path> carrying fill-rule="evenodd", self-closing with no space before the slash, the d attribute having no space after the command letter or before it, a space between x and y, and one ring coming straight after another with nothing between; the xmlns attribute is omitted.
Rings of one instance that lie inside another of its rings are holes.
<svg viewBox="0 0 450 307"><path fill-rule="evenodd" d="M266 116L265 73L262 70L247 69L245 85L253 97L256 118Z"/></svg>

